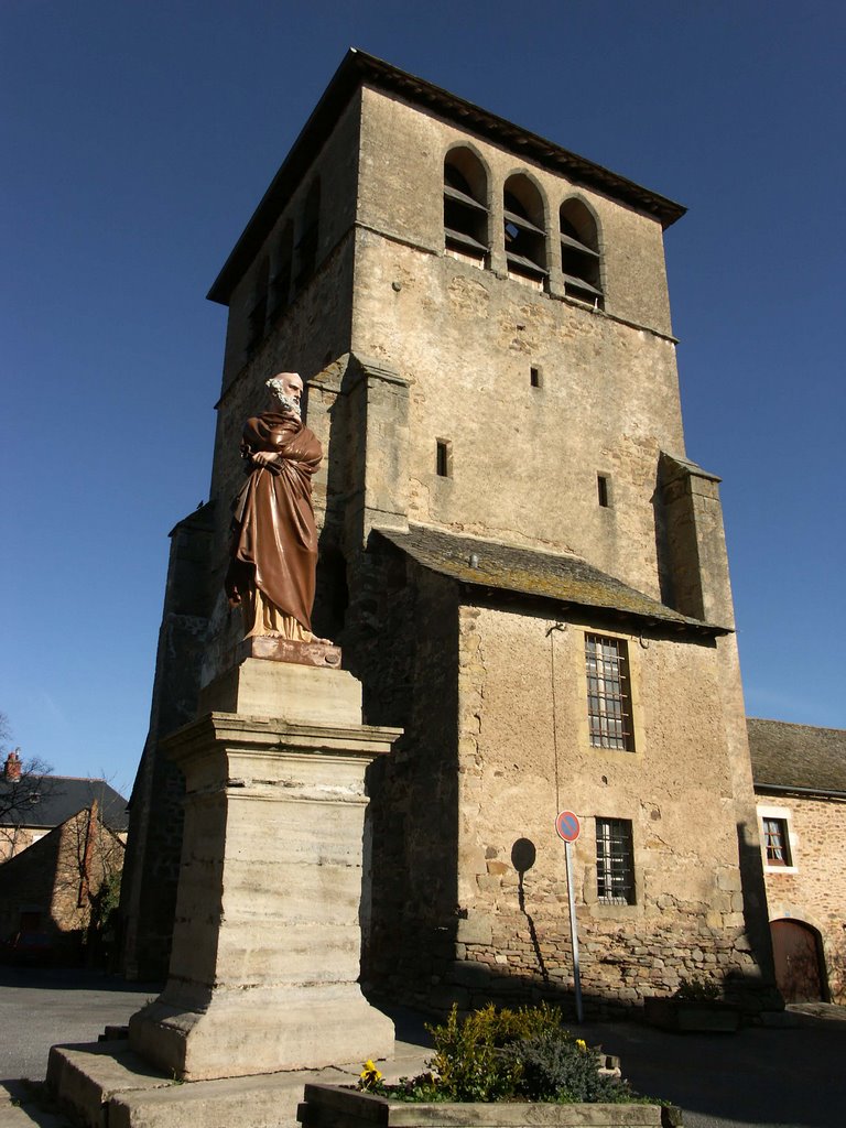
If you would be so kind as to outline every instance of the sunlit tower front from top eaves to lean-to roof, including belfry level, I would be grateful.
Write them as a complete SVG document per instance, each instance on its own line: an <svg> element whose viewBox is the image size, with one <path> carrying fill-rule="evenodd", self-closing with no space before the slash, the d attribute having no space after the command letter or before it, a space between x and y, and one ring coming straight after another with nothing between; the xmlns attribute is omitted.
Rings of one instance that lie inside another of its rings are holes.
<svg viewBox="0 0 846 1128"><path fill-rule="evenodd" d="M460 141L488 170L490 270L443 249L443 158ZM550 232L539 292L497 261L513 155L370 90L361 144L352 349L411 384L409 520L576 553L660 598L659 455L684 456L660 224L579 188L601 233L594 311L556 283L565 177L527 169ZM435 473L437 440L451 444L449 477Z"/></svg>

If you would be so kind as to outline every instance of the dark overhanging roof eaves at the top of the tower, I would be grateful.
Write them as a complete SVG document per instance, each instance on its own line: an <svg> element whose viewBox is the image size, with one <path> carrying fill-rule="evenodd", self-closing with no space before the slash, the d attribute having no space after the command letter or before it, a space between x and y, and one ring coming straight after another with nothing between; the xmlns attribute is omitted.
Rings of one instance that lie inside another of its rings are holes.
<svg viewBox="0 0 846 1128"><path fill-rule="evenodd" d="M229 301L233 287L258 254L292 190L308 171L309 165L352 96L365 85L397 94L413 105L423 106L447 121L456 122L469 133L486 138L506 149L517 149L525 159L537 161L553 173L562 173L578 184L596 188L646 215L654 217L663 228L675 223L687 210L681 204L651 192L625 176L611 173L569 149L562 149L561 146L536 133L512 125L504 117L482 109L472 102L465 102L449 90L443 90L415 74L408 74L364 51L351 47L209 291L212 301L223 305Z"/></svg>

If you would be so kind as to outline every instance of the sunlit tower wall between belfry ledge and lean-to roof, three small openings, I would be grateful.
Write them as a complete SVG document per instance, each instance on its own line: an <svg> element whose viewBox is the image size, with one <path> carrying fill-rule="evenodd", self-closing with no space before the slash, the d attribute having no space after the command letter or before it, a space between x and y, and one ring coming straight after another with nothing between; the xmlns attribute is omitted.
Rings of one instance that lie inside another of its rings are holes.
<svg viewBox="0 0 846 1128"><path fill-rule="evenodd" d="M354 347L412 385L409 520L576 553L660 598L659 456L682 443L672 344L368 232L356 264Z"/></svg>

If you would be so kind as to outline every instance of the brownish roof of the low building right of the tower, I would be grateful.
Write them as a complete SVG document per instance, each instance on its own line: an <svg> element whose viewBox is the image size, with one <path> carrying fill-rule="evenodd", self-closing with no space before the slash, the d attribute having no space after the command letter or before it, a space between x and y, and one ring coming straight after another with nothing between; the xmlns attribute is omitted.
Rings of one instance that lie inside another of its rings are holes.
<svg viewBox="0 0 846 1128"><path fill-rule="evenodd" d="M846 795L846 730L747 717L755 786Z"/></svg>

